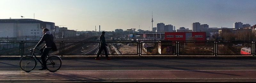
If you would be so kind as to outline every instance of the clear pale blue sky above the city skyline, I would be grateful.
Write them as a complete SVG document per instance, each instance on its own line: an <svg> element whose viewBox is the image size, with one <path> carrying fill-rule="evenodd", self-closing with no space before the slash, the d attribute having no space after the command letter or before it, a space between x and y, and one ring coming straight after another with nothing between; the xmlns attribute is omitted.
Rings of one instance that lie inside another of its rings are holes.
<svg viewBox="0 0 256 83"><path fill-rule="evenodd" d="M0 0L0 19L34 18L92 31L136 28L151 30L157 23L192 29L233 27L234 22L256 24L256 0Z"/></svg>

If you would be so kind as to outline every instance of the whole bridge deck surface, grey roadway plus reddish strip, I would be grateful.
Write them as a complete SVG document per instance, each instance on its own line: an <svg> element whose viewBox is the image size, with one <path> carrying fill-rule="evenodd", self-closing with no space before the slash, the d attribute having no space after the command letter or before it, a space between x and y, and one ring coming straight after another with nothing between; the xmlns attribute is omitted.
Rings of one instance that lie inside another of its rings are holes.
<svg viewBox="0 0 256 83"><path fill-rule="evenodd" d="M57 72L24 72L19 61L0 59L0 82L256 82L256 59L64 58Z"/></svg>

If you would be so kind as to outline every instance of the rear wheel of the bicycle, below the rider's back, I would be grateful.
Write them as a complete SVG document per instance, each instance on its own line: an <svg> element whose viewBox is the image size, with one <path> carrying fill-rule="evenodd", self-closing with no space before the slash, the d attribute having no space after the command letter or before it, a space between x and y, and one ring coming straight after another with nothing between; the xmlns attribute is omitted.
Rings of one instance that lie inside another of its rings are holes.
<svg viewBox="0 0 256 83"><path fill-rule="evenodd" d="M62 61L60 57L56 55L52 55L46 59L46 67L50 72L56 72L60 69Z"/></svg>

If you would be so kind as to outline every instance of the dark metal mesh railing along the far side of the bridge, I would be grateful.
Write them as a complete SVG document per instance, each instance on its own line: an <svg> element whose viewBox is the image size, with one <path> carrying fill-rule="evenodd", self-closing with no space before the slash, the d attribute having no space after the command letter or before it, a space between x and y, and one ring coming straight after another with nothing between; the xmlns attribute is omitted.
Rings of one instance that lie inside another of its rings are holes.
<svg viewBox="0 0 256 83"><path fill-rule="evenodd" d="M0 56L29 55L36 40L0 40ZM54 55L97 55L98 40L55 40ZM106 41L109 55L255 55L255 41ZM40 45L41 47L44 44Z"/></svg>

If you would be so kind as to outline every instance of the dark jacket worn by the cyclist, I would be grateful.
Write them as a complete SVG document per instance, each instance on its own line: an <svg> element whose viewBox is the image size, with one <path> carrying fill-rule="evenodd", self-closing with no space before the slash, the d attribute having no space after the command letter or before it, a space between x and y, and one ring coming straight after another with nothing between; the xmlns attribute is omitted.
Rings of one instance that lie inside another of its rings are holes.
<svg viewBox="0 0 256 83"><path fill-rule="evenodd" d="M46 32L36 46L41 45L44 41L45 41L45 46L47 48L52 47L53 35L50 32Z"/></svg>

